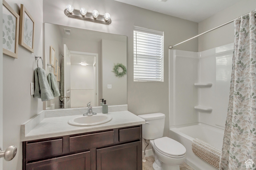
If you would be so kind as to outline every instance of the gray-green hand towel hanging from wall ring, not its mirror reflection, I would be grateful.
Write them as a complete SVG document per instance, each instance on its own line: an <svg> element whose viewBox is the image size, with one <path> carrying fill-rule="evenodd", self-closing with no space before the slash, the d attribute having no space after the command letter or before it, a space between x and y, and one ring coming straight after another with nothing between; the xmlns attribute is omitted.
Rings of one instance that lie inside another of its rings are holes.
<svg viewBox="0 0 256 170"><path fill-rule="evenodd" d="M41 98L42 101L54 99L50 86L47 82L45 70L35 69L35 94L34 98Z"/></svg>

